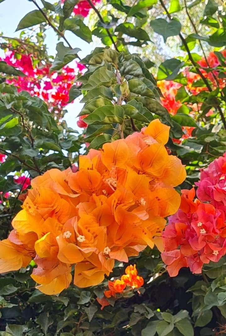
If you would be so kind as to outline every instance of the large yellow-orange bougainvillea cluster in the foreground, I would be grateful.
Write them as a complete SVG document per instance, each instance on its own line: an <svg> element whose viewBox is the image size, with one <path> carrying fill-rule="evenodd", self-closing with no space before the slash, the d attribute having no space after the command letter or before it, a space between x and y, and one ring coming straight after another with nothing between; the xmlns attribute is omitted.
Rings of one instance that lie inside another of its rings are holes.
<svg viewBox="0 0 226 336"><path fill-rule="evenodd" d="M174 186L186 176L165 144L169 127L158 119L141 132L103 145L79 158L79 171L51 169L32 181L14 230L0 242L0 272L33 258L40 291L57 294L71 282L103 281L114 261L128 261L147 245L163 250L165 219L180 196Z"/></svg>

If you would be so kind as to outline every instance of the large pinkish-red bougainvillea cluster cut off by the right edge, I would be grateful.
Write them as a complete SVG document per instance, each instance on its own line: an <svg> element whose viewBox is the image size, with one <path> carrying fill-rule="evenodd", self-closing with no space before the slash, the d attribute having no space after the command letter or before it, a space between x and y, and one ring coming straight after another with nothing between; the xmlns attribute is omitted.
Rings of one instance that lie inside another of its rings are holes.
<svg viewBox="0 0 226 336"><path fill-rule="evenodd" d="M204 263L226 254L226 154L202 170L195 184L197 198L194 188L182 190L180 208L162 234L162 259L170 276L181 267L199 274Z"/></svg>

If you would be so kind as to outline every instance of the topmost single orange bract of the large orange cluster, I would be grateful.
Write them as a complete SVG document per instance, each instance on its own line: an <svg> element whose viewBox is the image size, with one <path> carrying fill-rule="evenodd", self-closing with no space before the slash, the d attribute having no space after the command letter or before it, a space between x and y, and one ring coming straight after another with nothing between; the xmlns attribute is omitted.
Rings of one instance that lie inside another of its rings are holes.
<svg viewBox="0 0 226 336"><path fill-rule="evenodd" d="M155 119L150 122L144 133L165 145L169 140L169 130L169 126L162 124L159 119Z"/></svg>

